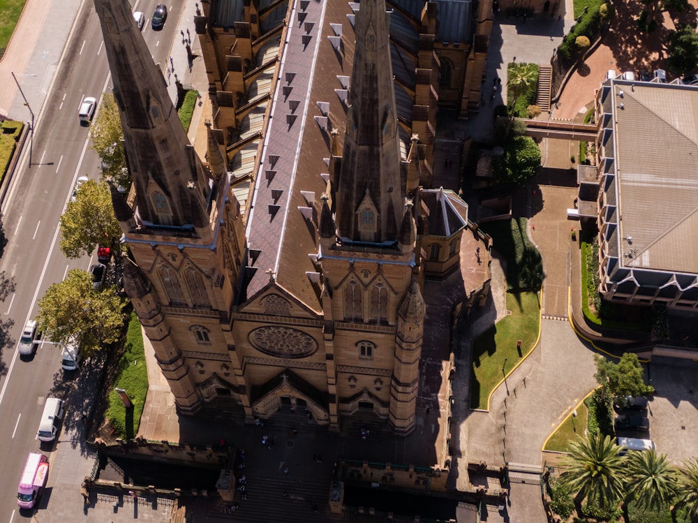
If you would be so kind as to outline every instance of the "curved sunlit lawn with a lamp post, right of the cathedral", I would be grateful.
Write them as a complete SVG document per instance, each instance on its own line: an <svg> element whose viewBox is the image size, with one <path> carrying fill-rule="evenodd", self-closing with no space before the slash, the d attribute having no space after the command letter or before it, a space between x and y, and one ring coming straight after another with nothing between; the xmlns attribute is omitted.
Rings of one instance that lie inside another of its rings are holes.
<svg viewBox="0 0 698 523"><path fill-rule="evenodd" d="M507 293L507 310L512 314L483 332L473 343L471 408L488 407L489 395L504 377L502 367L510 372L533 350L538 338L540 298L537 293ZM519 339L522 341L521 351L517 348Z"/></svg>

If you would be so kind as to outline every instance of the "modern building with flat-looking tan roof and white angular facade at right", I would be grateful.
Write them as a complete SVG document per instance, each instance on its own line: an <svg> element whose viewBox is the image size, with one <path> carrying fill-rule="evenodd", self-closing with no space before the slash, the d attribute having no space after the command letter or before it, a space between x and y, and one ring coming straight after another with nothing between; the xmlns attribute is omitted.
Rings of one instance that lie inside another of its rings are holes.
<svg viewBox="0 0 698 523"><path fill-rule="evenodd" d="M698 308L697 108L698 88L681 84L611 79L597 91L599 290L607 300Z"/></svg>

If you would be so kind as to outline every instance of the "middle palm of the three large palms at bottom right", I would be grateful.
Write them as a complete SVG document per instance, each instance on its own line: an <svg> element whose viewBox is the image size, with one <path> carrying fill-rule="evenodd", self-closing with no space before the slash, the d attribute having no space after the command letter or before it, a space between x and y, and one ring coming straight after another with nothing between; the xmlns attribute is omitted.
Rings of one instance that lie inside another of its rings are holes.
<svg viewBox="0 0 698 523"><path fill-rule="evenodd" d="M625 459L624 505L634 499L641 508L660 510L676 497L676 470L666 454L657 455L654 449L628 452Z"/></svg>

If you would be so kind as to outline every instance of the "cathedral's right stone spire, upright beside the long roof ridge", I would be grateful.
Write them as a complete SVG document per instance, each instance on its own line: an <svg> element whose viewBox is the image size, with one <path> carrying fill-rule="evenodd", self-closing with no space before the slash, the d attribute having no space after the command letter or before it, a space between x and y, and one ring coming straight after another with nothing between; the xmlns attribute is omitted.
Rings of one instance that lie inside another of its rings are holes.
<svg viewBox="0 0 698 523"><path fill-rule="evenodd" d="M362 0L348 96L336 216L345 240L392 242L404 209L403 172L385 0Z"/></svg>

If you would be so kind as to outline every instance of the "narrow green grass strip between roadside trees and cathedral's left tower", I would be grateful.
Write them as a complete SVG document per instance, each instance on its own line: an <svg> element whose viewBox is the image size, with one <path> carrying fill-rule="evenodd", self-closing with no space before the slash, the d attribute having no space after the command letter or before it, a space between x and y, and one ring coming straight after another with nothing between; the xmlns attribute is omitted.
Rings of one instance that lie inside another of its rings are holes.
<svg viewBox="0 0 698 523"><path fill-rule="evenodd" d="M112 389L109 395L107 419L111 422L117 436L131 439L138 434L140 416L148 393L148 371L145 367L143 337L135 313L131 313L131 318L128 320L124 355L121 356L119 371L112 387L126 390L131 397L133 407L126 408L119 395Z"/></svg>

